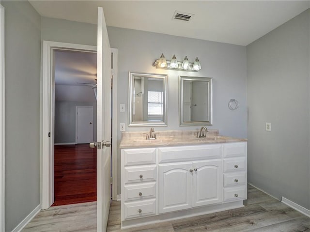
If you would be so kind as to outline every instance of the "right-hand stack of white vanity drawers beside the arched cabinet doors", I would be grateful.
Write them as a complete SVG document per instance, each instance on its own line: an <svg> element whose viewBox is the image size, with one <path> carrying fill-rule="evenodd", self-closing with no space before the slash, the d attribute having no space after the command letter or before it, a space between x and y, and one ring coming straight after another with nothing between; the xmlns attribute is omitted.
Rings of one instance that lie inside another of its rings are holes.
<svg viewBox="0 0 310 232"><path fill-rule="evenodd" d="M247 143L223 145L223 202L247 199Z"/></svg>

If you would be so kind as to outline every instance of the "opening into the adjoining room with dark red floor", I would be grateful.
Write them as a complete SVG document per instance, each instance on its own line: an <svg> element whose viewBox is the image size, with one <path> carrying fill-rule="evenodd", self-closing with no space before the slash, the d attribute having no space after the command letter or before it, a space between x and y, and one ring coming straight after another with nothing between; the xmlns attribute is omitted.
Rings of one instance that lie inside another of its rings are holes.
<svg viewBox="0 0 310 232"><path fill-rule="evenodd" d="M97 53L55 50L54 203L96 201ZM94 133L95 132L95 133Z"/></svg>

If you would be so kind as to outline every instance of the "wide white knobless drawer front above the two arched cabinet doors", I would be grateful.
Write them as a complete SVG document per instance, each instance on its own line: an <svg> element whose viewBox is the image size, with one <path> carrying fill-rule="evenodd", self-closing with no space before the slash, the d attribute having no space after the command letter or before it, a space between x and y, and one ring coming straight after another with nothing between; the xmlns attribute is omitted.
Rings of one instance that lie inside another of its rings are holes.
<svg viewBox="0 0 310 232"><path fill-rule="evenodd" d="M222 145L159 147L158 162L221 159Z"/></svg>

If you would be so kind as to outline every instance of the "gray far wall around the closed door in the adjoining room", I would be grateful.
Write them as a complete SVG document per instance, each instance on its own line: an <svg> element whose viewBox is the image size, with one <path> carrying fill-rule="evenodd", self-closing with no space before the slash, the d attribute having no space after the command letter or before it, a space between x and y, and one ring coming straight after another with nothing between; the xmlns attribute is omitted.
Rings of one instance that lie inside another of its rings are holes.
<svg viewBox="0 0 310 232"><path fill-rule="evenodd" d="M97 103L55 101L55 144L76 142L76 106L93 106L93 138L97 137Z"/></svg>

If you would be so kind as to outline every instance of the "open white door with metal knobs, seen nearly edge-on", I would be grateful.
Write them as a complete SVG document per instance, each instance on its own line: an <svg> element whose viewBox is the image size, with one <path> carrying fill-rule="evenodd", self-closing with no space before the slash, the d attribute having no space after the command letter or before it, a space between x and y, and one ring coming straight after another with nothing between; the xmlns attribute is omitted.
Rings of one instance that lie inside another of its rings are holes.
<svg viewBox="0 0 310 232"><path fill-rule="evenodd" d="M97 40L97 231L105 232L111 201L111 48L101 7Z"/></svg>

